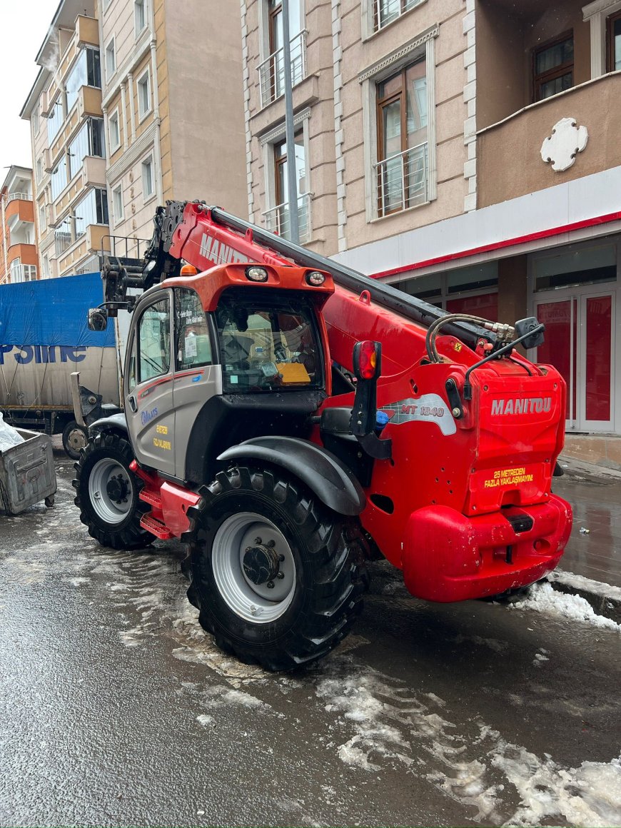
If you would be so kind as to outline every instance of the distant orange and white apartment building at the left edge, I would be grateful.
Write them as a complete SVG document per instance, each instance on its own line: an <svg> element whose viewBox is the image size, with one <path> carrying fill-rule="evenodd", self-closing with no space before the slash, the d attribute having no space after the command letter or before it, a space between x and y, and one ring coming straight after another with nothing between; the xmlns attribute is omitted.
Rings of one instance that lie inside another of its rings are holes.
<svg viewBox="0 0 621 828"><path fill-rule="evenodd" d="M0 285L37 278L32 170L11 166L0 187Z"/></svg>

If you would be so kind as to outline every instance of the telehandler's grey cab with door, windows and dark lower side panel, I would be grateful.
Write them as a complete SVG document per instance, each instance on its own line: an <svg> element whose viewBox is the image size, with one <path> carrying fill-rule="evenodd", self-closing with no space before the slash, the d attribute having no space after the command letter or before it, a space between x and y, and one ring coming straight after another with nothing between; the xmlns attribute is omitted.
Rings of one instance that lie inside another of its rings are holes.
<svg viewBox="0 0 621 828"><path fill-rule="evenodd" d="M325 330L305 291L232 286L205 310L206 278L141 297L125 374L138 462L195 483L229 445L300 433L326 396Z"/></svg>

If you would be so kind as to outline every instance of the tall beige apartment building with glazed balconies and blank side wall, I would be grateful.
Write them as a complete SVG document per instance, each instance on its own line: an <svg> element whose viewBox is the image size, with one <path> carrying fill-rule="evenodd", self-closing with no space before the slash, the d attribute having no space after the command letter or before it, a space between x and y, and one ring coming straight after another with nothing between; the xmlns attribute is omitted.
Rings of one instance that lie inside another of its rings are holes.
<svg viewBox="0 0 621 828"><path fill-rule="evenodd" d="M142 254L166 199L245 212L239 26L218 0L61 0L22 108L42 277Z"/></svg>

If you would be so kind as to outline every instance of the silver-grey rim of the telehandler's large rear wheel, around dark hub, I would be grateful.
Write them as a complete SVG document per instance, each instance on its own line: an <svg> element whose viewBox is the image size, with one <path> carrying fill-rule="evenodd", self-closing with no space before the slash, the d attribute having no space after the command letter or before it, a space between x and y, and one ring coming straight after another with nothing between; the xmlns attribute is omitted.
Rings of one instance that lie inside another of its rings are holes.
<svg viewBox="0 0 621 828"><path fill-rule="evenodd" d="M243 558L257 539L271 545L281 557L279 572L267 583L254 584L243 570ZM228 517L214 537L211 566L218 590L229 609L245 621L270 623L281 618L296 592L296 562L291 546L272 521L262 515L242 512Z"/></svg>

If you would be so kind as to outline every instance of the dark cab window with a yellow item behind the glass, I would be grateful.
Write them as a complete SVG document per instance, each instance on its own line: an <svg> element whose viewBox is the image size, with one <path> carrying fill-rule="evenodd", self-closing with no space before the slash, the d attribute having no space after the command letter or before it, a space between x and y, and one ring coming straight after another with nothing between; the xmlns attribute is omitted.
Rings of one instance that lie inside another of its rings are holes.
<svg viewBox="0 0 621 828"><path fill-rule="evenodd" d="M267 298L267 297L266 297ZM224 392L322 388L321 348L310 306L236 301L216 310Z"/></svg>

